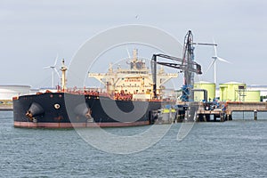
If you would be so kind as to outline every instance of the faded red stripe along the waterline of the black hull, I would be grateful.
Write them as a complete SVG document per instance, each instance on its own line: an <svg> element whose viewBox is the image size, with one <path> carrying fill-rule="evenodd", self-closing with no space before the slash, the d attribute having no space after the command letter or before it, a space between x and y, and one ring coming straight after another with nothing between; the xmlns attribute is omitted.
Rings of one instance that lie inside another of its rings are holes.
<svg viewBox="0 0 267 178"><path fill-rule="evenodd" d="M33 122L19 122L14 121L15 127L28 127L28 128L73 128L73 127L116 127L116 126L135 126L135 125L150 125L150 121L138 121L133 123L33 123Z"/></svg>

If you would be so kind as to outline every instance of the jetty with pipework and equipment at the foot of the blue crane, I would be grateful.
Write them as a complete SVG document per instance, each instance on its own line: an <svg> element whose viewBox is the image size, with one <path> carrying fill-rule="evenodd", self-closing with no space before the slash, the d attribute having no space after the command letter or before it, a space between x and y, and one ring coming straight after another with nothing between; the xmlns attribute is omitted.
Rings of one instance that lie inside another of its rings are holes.
<svg viewBox="0 0 267 178"><path fill-rule="evenodd" d="M232 113L253 112L257 120L258 112L267 112L267 102L189 102L183 108L161 109L156 124L171 124L183 121L224 122L232 120Z"/></svg>

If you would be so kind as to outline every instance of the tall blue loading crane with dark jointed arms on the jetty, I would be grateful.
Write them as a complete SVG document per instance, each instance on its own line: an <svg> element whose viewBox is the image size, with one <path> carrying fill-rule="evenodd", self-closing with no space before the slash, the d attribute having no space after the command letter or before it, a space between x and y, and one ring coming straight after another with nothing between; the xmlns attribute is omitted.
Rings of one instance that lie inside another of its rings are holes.
<svg viewBox="0 0 267 178"><path fill-rule="evenodd" d="M217 45L217 44L207 44L207 43L193 43L193 35L189 30L184 37L183 53L182 59L174 56L169 56L166 54L153 54L151 59L151 70L153 77L153 95L157 98L157 64L166 67L180 69L180 72L184 74L184 80L182 85L182 101L190 101L190 93L194 85L194 74L201 75L201 66L194 61L194 44L200 45ZM165 58L175 62L163 62L158 61L157 58Z"/></svg>

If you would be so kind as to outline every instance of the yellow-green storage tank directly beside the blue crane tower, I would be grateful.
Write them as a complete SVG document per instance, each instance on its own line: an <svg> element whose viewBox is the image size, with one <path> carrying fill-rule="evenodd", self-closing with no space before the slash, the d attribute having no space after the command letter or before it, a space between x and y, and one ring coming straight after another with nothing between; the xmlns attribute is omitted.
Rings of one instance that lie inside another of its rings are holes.
<svg viewBox="0 0 267 178"><path fill-rule="evenodd" d="M194 89L204 89L207 92L207 101L213 101L215 98L215 84L211 82L200 81L194 84ZM204 93L195 91L194 101L203 101Z"/></svg>

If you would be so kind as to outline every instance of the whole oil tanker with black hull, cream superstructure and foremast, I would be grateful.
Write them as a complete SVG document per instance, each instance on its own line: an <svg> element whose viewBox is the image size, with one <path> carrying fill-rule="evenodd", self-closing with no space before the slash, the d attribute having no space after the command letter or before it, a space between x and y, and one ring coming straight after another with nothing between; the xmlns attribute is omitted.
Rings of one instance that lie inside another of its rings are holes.
<svg viewBox="0 0 267 178"><path fill-rule="evenodd" d="M153 79L137 50L128 63L129 69L113 69L108 73L89 73L106 85L95 88L67 88L67 67L62 61L61 87L35 94L14 96L13 125L15 127L71 128L92 126L150 125L157 119L163 101L163 85L177 73L157 73L158 96L153 96ZM170 102L170 101L168 101Z"/></svg>

